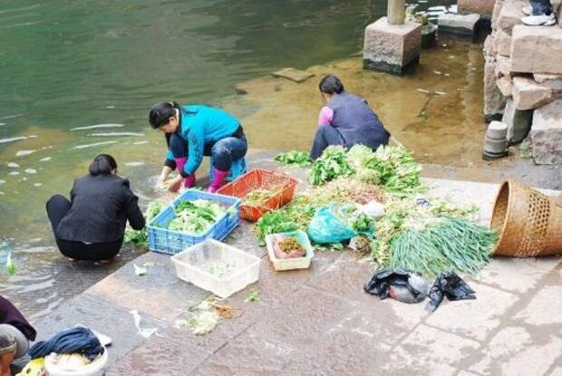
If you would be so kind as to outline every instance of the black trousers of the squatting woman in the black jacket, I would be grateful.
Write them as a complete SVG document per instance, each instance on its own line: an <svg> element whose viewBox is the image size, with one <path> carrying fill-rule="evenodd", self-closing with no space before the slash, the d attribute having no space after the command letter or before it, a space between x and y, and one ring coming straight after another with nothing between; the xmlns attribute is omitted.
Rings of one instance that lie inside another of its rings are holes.
<svg viewBox="0 0 562 376"><path fill-rule="evenodd" d="M110 259L119 253L123 244L122 236L114 242L92 244L64 240L56 236L56 227L70 208L71 202L61 195L54 195L47 201L47 216L53 227L54 240L63 255L76 260L100 261Z"/></svg>

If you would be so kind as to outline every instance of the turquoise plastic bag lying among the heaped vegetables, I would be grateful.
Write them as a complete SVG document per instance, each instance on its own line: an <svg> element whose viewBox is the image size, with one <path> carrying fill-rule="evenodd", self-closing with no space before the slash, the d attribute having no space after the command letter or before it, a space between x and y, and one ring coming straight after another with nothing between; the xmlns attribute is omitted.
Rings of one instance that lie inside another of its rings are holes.
<svg viewBox="0 0 562 376"><path fill-rule="evenodd" d="M306 232L315 244L341 243L356 235L354 229L334 214L336 207L316 210Z"/></svg>

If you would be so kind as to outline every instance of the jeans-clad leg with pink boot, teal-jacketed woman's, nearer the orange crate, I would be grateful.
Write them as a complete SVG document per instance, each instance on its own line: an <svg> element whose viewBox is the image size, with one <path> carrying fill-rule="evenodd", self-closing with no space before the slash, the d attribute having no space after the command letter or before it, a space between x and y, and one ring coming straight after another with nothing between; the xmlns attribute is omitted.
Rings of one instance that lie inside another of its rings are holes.
<svg viewBox="0 0 562 376"><path fill-rule="evenodd" d="M218 140L211 148L211 161L213 163L213 181L211 181L208 191L216 192L220 188L225 178L230 173L232 161L244 158L247 153L246 137L237 139L227 137Z"/></svg>

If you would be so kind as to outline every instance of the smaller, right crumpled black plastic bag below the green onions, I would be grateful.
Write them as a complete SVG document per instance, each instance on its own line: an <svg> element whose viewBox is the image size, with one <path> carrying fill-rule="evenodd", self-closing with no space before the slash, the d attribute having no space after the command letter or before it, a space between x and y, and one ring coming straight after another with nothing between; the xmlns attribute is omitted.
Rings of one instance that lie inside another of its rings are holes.
<svg viewBox="0 0 562 376"><path fill-rule="evenodd" d="M427 311L433 312L439 307L444 297L451 301L476 299L476 292L455 272L441 273L431 287L430 302L425 306Z"/></svg>

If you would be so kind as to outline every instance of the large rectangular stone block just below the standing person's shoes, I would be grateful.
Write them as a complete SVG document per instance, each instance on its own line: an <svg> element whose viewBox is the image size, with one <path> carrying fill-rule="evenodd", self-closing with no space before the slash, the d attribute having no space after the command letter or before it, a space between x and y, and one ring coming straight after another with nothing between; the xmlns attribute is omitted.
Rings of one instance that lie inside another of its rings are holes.
<svg viewBox="0 0 562 376"><path fill-rule="evenodd" d="M562 29L513 27L510 56L513 72L562 74Z"/></svg>

